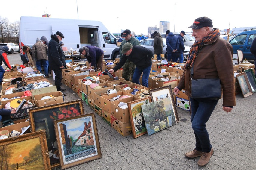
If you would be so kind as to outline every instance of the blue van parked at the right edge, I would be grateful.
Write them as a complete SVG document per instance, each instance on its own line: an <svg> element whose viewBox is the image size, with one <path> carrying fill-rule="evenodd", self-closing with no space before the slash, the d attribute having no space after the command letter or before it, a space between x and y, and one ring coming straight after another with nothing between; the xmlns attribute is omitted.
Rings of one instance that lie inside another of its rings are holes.
<svg viewBox="0 0 256 170"><path fill-rule="evenodd" d="M237 34L229 43L233 46L234 54L237 50L243 51L243 59L254 60L254 55L250 52L252 41L256 37L256 30L244 31Z"/></svg>

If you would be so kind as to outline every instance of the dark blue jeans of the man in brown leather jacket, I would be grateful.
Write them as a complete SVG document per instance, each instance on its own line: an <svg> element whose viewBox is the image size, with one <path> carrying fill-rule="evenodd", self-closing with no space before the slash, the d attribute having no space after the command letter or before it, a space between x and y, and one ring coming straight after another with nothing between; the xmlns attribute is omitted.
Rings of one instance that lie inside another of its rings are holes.
<svg viewBox="0 0 256 170"><path fill-rule="evenodd" d="M209 120L212 112L217 105L218 100L195 99L190 97L191 102L191 122L192 129L196 137L196 150L210 152L209 134L206 130L206 122Z"/></svg>

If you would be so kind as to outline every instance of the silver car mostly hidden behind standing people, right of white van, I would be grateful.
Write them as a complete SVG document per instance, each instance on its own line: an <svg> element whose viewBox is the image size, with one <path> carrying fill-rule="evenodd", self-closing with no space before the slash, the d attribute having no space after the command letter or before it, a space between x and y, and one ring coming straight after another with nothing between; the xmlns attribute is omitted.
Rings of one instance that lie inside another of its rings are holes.
<svg viewBox="0 0 256 170"><path fill-rule="evenodd" d="M141 44L141 46L143 46L145 48L148 48L148 49L150 49L151 51L154 52L154 48L153 48L154 39L153 38L140 40L140 44ZM165 58L167 58L166 47L167 47L166 38L163 38L163 53L162 54L164 54ZM188 55L189 50L190 50L190 47L185 45L184 58Z"/></svg>

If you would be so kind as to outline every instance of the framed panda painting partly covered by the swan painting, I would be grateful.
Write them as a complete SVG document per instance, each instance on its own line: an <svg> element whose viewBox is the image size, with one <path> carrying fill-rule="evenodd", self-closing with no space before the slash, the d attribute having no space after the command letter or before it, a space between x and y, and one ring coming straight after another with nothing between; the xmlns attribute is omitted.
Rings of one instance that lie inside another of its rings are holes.
<svg viewBox="0 0 256 170"><path fill-rule="evenodd" d="M132 125L133 137L137 138L139 136L147 133L147 128L145 125L145 120L142 113L141 106L143 104L148 104L151 102L150 97L142 98L136 101L128 102L128 109L130 114L130 120Z"/></svg>

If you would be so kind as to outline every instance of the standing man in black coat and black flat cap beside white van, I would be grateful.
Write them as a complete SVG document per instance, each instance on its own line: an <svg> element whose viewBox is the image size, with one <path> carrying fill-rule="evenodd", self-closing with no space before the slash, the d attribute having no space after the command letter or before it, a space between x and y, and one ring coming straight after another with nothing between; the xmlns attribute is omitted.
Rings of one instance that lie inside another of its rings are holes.
<svg viewBox="0 0 256 170"><path fill-rule="evenodd" d="M64 95L66 95L66 93L63 92L66 89L62 89L60 87L62 80L61 69L66 68L65 55L61 46L59 45L59 41L61 41L62 38L64 38L64 36L59 31L57 31L54 35L51 35L51 40L48 44L48 60L50 69L55 73L55 85L57 86L57 91L61 91Z"/></svg>

